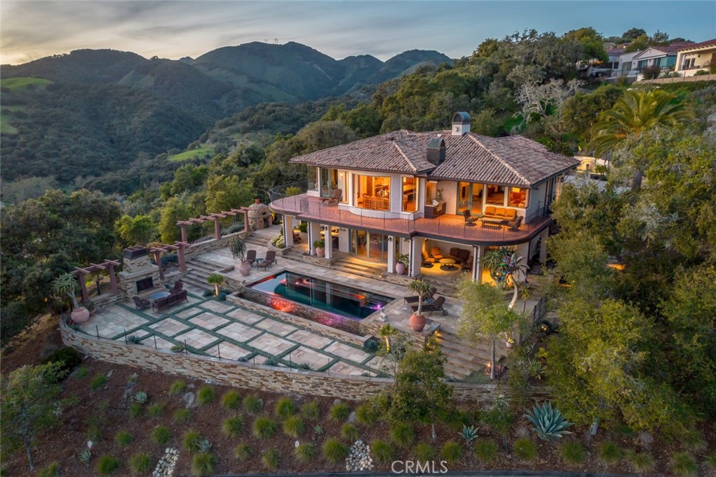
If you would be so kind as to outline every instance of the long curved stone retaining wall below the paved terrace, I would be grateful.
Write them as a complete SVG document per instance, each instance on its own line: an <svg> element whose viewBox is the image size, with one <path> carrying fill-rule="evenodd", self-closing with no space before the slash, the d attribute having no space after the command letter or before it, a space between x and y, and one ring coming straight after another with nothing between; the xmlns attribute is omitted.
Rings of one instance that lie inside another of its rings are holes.
<svg viewBox="0 0 716 477"><path fill-rule="evenodd" d="M62 342L97 360L144 367L170 375L191 379L211 380L219 385L271 392L295 392L300 395L337 397L346 400L366 400L392 385L383 377L345 376L307 370L253 365L249 362L219 360L216 357L187 355L154 350L141 344L125 344L111 339L95 338L76 332L59 320ZM455 399L461 402L485 402L495 392L508 394L506 386L453 383ZM549 396L546 388L531 392L531 400Z"/></svg>

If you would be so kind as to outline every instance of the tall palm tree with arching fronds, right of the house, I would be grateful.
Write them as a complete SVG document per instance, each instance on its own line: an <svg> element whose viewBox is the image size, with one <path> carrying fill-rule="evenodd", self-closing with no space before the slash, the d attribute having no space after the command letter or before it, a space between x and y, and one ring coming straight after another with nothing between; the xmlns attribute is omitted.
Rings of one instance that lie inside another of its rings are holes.
<svg viewBox="0 0 716 477"><path fill-rule="evenodd" d="M691 117L683 102L674 102L676 97L662 90L628 90L614 103L611 110L599 115L599 121L592 127L589 148L601 157L614 150L630 135L639 136L652 127L675 126L679 121ZM643 167L637 166L632 180L632 191L642 187Z"/></svg>

